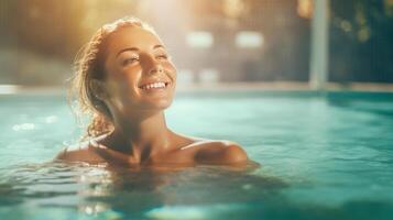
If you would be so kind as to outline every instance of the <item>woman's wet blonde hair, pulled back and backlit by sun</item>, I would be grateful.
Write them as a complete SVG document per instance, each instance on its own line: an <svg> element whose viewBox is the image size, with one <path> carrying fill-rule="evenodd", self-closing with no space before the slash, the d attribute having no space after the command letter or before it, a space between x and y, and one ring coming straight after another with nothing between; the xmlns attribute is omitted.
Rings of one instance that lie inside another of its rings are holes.
<svg viewBox="0 0 393 220"><path fill-rule="evenodd" d="M80 50L81 53L76 56L75 75L70 79L68 101L79 124L83 124L83 118L88 117L89 122L85 128L86 133L83 135L83 140L96 138L113 130L111 112L107 105L97 97L91 81L92 79L105 80L108 40L114 32L128 26L143 28L157 35L151 25L140 19L124 16L102 25ZM83 127L85 125L83 124Z"/></svg>

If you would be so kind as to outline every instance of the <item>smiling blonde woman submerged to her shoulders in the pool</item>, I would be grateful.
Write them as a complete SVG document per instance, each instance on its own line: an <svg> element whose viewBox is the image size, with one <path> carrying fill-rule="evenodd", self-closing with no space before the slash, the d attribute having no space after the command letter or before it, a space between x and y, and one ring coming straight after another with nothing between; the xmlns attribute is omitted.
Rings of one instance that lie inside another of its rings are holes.
<svg viewBox="0 0 393 220"><path fill-rule="evenodd" d="M103 25L77 63L74 94L91 116L88 142L56 158L137 166L247 164L239 144L182 135L165 123L176 69L154 30L135 18Z"/></svg>

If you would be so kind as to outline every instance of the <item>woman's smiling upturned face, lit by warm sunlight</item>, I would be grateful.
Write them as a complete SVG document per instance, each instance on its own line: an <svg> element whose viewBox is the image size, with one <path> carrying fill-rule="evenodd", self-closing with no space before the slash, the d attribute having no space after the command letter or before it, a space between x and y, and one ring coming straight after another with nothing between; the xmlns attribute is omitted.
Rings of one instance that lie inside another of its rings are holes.
<svg viewBox="0 0 393 220"><path fill-rule="evenodd" d="M113 33L106 54L106 101L121 111L160 110L171 106L176 69L161 40L130 26Z"/></svg>

